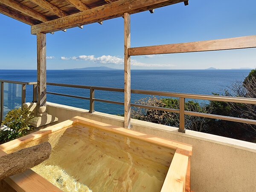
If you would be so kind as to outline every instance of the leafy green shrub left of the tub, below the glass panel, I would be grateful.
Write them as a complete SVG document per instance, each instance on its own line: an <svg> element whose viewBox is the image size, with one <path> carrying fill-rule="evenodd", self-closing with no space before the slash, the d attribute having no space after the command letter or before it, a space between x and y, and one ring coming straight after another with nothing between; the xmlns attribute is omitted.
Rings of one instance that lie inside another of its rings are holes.
<svg viewBox="0 0 256 192"><path fill-rule="evenodd" d="M9 111L2 122L7 128L0 131L0 144L23 137L29 130L32 130L33 127L26 123L27 119L33 117L32 113L27 108Z"/></svg>

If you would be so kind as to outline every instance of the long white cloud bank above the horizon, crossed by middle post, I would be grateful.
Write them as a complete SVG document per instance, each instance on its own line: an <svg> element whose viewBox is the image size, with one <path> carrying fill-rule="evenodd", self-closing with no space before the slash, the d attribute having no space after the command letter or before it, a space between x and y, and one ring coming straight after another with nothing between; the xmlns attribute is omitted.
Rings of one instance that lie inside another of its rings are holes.
<svg viewBox="0 0 256 192"><path fill-rule="evenodd" d="M154 55L147 55L150 57L153 57ZM62 60L76 60L76 61L93 61L96 63L102 63L102 64L124 64L124 58L119 58L116 56L111 55L102 55L100 57L95 57L94 55L79 55L79 56L73 56L70 58L67 57L61 57ZM148 64L148 63L142 63L140 61L131 59L131 65L133 66L141 66L141 67L173 67L175 65L172 64Z"/></svg>

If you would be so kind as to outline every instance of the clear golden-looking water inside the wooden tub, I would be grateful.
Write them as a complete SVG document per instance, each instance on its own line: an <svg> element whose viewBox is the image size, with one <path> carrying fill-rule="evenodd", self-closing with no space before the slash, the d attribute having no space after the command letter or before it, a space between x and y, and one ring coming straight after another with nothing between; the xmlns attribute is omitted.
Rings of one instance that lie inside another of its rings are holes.
<svg viewBox="0 0 256 192"><path fill-rule="evenodd" d="M49 141L49 159L32 168L65 192L160 191L174 150L93 127L75 125L20 145Z"/></svg>

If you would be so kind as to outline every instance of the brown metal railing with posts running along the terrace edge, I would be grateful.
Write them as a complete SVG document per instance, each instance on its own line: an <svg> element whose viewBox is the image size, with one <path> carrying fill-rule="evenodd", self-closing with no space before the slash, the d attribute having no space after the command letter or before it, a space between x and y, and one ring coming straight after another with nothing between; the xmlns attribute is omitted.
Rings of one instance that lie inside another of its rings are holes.
<svg viewBox="0 0 256 192"><path fill-rule="evenodd" d="M3 90L2 90L3 89L3 82L22 84L22 86L25 90L26 90L26 84L33 84L33 101L34 102L36 101L36 82L20 82L20 81L6 81L6 80L0 80L0 82L1 82L1 110L3 108L3 105L2 105L2 103L3 103L3 101L2 101L2 98L3 98L3 96L2 96L2 94L3 94ZM89 110L90 113L93 113L95 111L94 110L94 102L95 101L96 102L106 102L106 103L124 105L124 102L117 102L117 101L106 100L106 99L98 99L98 98L94 97L95 90L124 92L124 89L122 89L122 88L96 87L96 86L86 86L86 85L76 85L76 84L61 84L61 83L47 83L47 85L89 89L90 90L90 97L75 96L75 95L68 95L68 94L63 94L63 93L53 93L53 92L47 92L47 94L90 100L90 110ZM241 123L248 123L248 124L256 125L256 120L253 120L253 119L243 119L243 118L230 117L230 116L214 115L214 114L209 114L209 113L199 113L199 112L193 112L193 111L185 111L185 99L202 99L202 100L209 100L209 101L235 102L235 103L244 103L244 104L256 105L256 99L255 98L215 96L215 95L189 94L189 93L172 93L172 92L151 91L151 90L136 90L136 89L132 89L131 93L154 95L154 96L168 96L168 97L177 97L177 98L179 98L180 99L180 108L179 108L179 110L178 109L170 109L170 108L154 107L154 106L149 106L149 105L140 105L140 104L135 104L135 103L131 103L131 106L132 107L138 107L138 108L147 108L147 109L153 109L153 110L167 111L167 112L172 112L172 113L179 113L179 116L180 116L179 131L183 132L183 133L185 133L185 130L186 130L185 129L185 115L194 115L194 116L201 116L201 117L207 117L207 118L212 118L212 119L221 119L221 120L227 120L227 121L241 122ZM23 93L23 98L26 98L26 91L25 91L25 93ZM22 99L22 102L25 102L25 99ZM3 114L3 113L1 113L1 114Z"/></svg>

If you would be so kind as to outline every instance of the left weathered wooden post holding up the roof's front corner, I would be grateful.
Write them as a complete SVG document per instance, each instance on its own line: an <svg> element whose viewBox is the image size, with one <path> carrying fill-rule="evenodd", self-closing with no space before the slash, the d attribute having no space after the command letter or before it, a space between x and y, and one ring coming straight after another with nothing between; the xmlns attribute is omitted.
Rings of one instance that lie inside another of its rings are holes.
<svg viewBox="0 0 256 192"><path fill-rule="evenodd" d="M37 33L37 107L46 106L46 34Z"/></svg>

